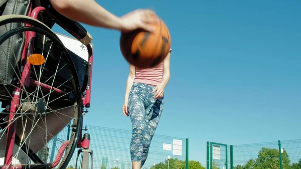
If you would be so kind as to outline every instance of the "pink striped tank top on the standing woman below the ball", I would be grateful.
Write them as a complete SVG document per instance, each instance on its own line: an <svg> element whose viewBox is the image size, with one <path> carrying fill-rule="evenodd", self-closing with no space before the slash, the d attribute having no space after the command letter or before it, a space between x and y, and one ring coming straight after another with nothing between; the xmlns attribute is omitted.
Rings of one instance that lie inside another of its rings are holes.
<svg viewBox="0 0 301 169"><path fill-rule="evenodd" d="M171 51L172 49L170 49ZM134 82L158 86L162 82L162 76L163 62L152 68L141 69L136 67Z"/></svg>

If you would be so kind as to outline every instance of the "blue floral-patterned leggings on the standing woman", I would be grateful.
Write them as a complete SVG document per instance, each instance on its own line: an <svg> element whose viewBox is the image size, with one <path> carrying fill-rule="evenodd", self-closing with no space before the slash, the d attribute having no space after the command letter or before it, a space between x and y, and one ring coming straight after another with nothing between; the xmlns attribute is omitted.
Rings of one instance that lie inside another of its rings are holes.
<svg viewBox="0 0 301 169"><path fill-rule="evenodd" d="M164 104L163 97L154 98L154 88L152 85L134 82L128 99L128 112L132 122L131 160L141 161L141 167L147 158Z"/></svg>

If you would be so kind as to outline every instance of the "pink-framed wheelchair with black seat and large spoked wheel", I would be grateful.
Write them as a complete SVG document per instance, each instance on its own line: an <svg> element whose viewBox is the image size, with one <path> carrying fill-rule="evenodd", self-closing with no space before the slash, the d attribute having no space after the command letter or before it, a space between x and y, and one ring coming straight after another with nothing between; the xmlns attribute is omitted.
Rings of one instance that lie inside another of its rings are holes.
<svg viewBox="0 0 301 169"><path fill-rule="evenodd" d="M84 154L81 167L88 168L90 136L82 126L90 107L92 37L47 0L0 0L0 6L0 168L64 169L77 148ZM65 47L55 24L86 50L87 59ZM70 137L57 139L55 159L41 159L38 152L68 123Z"/></svg>

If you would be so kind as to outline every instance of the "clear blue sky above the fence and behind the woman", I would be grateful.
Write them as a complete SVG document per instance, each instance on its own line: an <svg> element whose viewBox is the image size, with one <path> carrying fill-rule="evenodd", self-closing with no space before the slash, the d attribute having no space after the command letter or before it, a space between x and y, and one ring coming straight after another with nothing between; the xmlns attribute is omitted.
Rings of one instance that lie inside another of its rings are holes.
<svg viewBox="0 0 301 169"><path fill-rule="evenodd" d="M190 159L206 161L206 141L300 138L301 1L97 2L117 16L153 9L169 27L171 80L156 133L189 138ZM87 29L94 65L85 123L130 130L121 112L128 64L120 33Z"/></svg>

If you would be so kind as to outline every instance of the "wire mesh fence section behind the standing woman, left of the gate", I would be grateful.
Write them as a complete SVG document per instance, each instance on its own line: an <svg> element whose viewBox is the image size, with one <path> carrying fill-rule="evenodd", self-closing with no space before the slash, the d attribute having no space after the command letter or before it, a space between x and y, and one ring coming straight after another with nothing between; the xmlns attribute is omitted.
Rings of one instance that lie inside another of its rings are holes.
<svg viewBox="0 0 301 169"><path fill-rule="evenodd" d="M90 140L90 149L93 150L93 158L94 158L94 167L99 169L111 169L114 166L117 169L126 169L131 168L130 161L130 138L132 136L131 130L117 129L117 128L108 128L108 127L100 127L93 125L86 125L84 127L87 131L83 131L83 133L89 133L91 136ZM44 149L40 150L39 155L45 156L45 160L47 158L49 160L53 160L55 157L54 154L57 153L58 148L61 142L56 142L56 140L62 139L66 140L70 137L70 126L66 126L59 134L56 135L56 139L53 139L47 145L47 152L44 152ZM174 142L175 141L175 142ZM181 144L177 144L176 141L180 141ZM163 148L164 143L170 144L170 150L166 150ZM180 149L181 148L181 149ZM71 161L69 162L69 166L75 166L75 161L77 158L77 150L73 154ZM174 152L175 151L175 152ZM178 152L178 154L176 153ZM168 159L168 156L171 156L174 159L181 160L185 163L185 169L189 169L189 139L188 138L179 138L179 137L171 137L166 135L155 134L150 145L149 155L146 160L144 168L152 168L153 164L158 164L160 162L165 163ZM118 161L116 161L116 157L118 157ZM103 159L108 158L107 165L102 167ZM148 161L148 162L147 162ZM80 162L80 158L79 158ZM130 164L129 164L130 163ZM117 164L117 165L116 165ZM100 166L98 166L100 165ZM71 167L72 168L72 167ZM90 168L90 166L89 166ZM184 168L183 168L184 169Z"/></svg>

